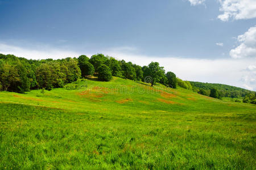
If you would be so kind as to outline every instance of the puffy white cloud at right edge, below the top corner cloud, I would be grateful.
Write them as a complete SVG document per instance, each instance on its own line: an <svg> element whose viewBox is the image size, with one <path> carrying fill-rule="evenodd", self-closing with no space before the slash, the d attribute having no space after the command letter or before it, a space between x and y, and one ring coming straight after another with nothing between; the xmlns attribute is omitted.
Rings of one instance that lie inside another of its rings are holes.
<svg viewBox="0 0 256 170"><path fill-rule="evenodd" d="M256 26L249 28L243 35L238 36L237 41L241 44L230 50L229 54L232 58L256 58Z"/></svg>

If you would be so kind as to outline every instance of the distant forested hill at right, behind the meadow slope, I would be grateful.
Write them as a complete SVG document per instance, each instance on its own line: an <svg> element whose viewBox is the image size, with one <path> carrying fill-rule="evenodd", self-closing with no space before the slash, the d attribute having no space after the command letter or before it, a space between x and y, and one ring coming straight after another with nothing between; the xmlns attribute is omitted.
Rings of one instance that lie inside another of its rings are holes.
<svg viewBox="0 0 256 170"><path fill-rule="evenodd" d="M219 83L202 83L202 82L191 82L191 85L193 87L193 91L198 92L199 90L204 90L206 92L206 95L209 96L210 89L217 88L217 90L220 92L220 94L223 97L245 97L249 94L254 94L253 91L246 90L244 88L235 87L235 86L229 86L226 84L219 84Z"/></svg>

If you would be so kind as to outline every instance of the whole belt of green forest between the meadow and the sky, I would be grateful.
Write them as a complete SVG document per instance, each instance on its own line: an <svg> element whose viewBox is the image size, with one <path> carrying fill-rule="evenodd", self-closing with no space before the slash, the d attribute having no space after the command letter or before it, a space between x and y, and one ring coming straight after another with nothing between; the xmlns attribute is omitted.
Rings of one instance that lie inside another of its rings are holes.
<svg viewBox="0 0 256 170"><path fill-rule="evenodd" d="M170 88L179 86L217 99L243 97L245 103L256 103L255 92L225 84L183 81L171 71L166 73L158 62L142 67L104 54L95 54L90 58L81 55L78 58L40 60L0 54L0 91L24 93L32 89L51 90L88 76L97 76L101 81L118 76L151 83L151 86L156 83Z"/></svg>

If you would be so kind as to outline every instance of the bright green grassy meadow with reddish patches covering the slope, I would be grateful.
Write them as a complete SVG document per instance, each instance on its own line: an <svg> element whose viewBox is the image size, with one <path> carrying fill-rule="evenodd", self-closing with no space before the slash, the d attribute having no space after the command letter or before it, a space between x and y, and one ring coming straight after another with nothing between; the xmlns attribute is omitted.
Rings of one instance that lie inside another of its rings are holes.
<svg viewBox="0 0 256 170"><path fill-rule="evenodd" d="M256 167L255 105L120 78L72 84L0 92L0 169Z"/></svg>

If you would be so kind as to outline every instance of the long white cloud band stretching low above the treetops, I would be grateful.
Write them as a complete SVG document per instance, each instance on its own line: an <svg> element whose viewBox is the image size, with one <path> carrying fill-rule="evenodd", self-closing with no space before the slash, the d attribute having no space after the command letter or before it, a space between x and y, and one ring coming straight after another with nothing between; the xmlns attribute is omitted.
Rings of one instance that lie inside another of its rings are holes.
<svg viewBox="0 0 256 170"><path fill-rule="evenodd" d="M127 52L129 51L129 52ZM244 87L247 84L250 88L256 90L256 84L251 82L255 79L254 71L256 61L253 58L242 59L197 59L197 58L181 58L181 57L160 57L160 56L146 56L134 54L138 52L137 49L129 46L113 48L108 50L101 50L105 55L113 56L117 59L125 59L138 65L148 65L151 61L159 62L164 66L166 71L173 71L179 78L185 80L209 82L209 83L223 83L237 87ZM86 52L75 52L72 50L60 50L53 48L31 50L21 48L19 46L0 44L0 53L14 54L19 57L26 57L32 59L43 58L64 58L64 57L78 57L81 54L92 56ZM98 52L93 52L98 53ZM249 70L248 70L249 69ZM242 78L247 75L248 79L245 82ZM245 87L244 87L245 88ZM246 87L247 88L247 87ZM247 88L249 89L249 88Z"/></svg>

